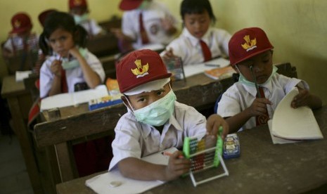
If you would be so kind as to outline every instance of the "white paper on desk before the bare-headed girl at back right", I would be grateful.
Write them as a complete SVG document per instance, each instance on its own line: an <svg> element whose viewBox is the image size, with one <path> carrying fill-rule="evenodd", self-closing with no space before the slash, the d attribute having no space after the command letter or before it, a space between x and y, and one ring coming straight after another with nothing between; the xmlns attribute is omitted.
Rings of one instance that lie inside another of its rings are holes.
<svg viewBox="0 0 327 194"><path fill-rule="evenodd" d="M191 77L192 75L203 73L205 72L205 70L212 70L214 68L217 68L217 66L207 66L205 64L219 65L219 67L226 67L227 65L229 65L229 60L227 60L226 58L215 58L205 63L190 64L190 65L184 64L183 68L184 68L185 77Z"/></svg>

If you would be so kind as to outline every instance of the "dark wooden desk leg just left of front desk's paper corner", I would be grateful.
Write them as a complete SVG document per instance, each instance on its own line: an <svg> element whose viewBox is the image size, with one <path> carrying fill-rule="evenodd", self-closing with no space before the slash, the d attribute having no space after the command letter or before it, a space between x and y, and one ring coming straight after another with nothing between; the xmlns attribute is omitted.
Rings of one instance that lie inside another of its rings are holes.
<svg viewBox="0 0 327 194"><path fill-rule="evenodd" d="M61 181L65 182L74 179L74 169L72 169L74 161L71 160L68 143L58 143L55 145L55 148Z"/></svg>

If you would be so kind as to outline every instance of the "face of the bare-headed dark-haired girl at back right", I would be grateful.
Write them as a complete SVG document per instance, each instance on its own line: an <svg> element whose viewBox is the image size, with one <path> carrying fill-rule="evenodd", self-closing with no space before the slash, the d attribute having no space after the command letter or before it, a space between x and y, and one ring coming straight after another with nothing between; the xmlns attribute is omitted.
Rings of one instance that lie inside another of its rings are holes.
<svg viewBox="0 0 327 194"><path fill-rule="evenodd" d="M201 39L210 27L211 20L207 11L204 11L201 14L186 13L183 19L188 32L198 39Z"/></svg>

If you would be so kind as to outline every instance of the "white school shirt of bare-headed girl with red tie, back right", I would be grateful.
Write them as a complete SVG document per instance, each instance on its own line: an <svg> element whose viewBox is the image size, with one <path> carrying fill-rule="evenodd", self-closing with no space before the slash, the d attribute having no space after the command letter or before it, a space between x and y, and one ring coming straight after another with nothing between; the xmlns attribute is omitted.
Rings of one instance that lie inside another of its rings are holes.
<svg viewBox="0 0 327 194"><path fill-rule="evenodd" d="M210 27L202 37L202 40L210 48L212 58L229 55L229 39L231 39L229 32L214 27ZM181 57L184 65L199 64L204 61L200 40L193 37L186 27L177 39L168 44L165 50L169 51L171 48L175 56ZM165 55L165 51L160 53L160 56L163 55Z"/></svg>

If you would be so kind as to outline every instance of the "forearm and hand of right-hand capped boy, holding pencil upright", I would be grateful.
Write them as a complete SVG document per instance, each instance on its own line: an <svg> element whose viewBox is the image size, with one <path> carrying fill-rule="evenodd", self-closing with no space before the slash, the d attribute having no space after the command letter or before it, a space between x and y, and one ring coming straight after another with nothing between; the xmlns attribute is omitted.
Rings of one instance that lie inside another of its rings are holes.
<svg viewBox="0 0 327 194"><path fill-rule="evenodd" d="M226 118L226 122L229 124L229 132L234 133L238 131L251 117L256 117L257 115L264 116L264 112L267 110L267 104L271 105L271 102L267 98L255 98L255 101L253 101L250 107L245 108L245 110L233 117Z"/></svg>

